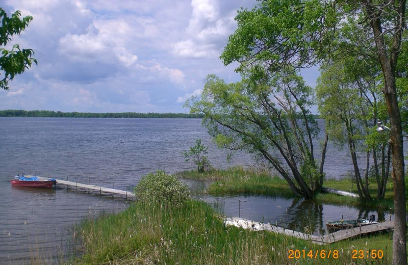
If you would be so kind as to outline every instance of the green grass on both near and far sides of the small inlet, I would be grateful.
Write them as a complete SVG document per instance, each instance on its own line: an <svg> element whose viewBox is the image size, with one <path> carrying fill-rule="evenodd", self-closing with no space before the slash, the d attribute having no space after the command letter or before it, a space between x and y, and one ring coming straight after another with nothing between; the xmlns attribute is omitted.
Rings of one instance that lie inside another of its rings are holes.
<svg viewBox="0 0 408 265"><path fill-rule="evenodd" d="M230 168L207 173L185 171L179 177L212 180L211 194L263 194L295 197L285 180L268 172ZM348 180L328 180L326 187L350 190ZM351 188L350 188L350 187ZM349 188L347 188L349 187ZM387 195L389 196L389 194ZM319 194L315 200L360 204L356 198ZM366 204L365 204L366 205ZM224 226L223 216L205 202L187 199L181 206L138 201L119 214L84 220L75 233L81 242L76 264L391 264L392 233L316 245L283 234ZM289 258L289 251L299 258ZM307 254L324 250L329 258ZM362 250L382 251L381 259L354 255ZM304 252L302 252L304 251ZM302 253L305 253L303 256ZM357 257L357 258L355 258Z"/></svg>

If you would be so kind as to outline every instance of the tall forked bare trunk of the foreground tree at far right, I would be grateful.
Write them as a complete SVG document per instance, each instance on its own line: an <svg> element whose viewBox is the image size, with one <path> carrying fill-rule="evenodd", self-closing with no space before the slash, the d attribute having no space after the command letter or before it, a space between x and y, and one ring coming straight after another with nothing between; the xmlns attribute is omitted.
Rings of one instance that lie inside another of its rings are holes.
<svg viewBox="0 0 408 265"><path fill-rule="evenodd" d="M392 244L392 263L406 264L406 199L404 180L404 153L402 140L401 115L398 108L397 91L395 86L395 73L397 60L401 48L402 31L405 25L405 0L390 2L391 8L395 8L395 27L392 30L392 43L387 52L385 35L381 26L381 12L369 0L362 0L365 11L370 19L373 30L375 47L378 61L384 74L384 95L387 103L387 111L390 116L390 145L392 153L392 177L394 183L394 235Z"/></svg>

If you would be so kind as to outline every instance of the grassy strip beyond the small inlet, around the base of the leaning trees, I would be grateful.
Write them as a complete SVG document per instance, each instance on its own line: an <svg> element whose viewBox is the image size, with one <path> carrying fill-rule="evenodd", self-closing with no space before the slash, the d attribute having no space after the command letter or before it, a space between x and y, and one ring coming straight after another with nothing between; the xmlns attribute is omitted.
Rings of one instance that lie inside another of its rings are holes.
<svg viewBox="0 0 408 265"><path fill-rule="evenodd" d="M207 192L211 195L252 194L272 197L295 197L285 179L270 175L269 171L257 171L251 168L233 167L228 169L212 169L198 173L196 170L184 171L179 174L182 178L212 180ZM323 186L352 193L358 193L355 183L347 178L342 180L328 179ZM393 191L387 189L384 199L376 199L376 183L370 183L372 200L360 200L336 194L320 193L316 200L322 203L336 205L366 206L372 208L394 208Z"/></svg>

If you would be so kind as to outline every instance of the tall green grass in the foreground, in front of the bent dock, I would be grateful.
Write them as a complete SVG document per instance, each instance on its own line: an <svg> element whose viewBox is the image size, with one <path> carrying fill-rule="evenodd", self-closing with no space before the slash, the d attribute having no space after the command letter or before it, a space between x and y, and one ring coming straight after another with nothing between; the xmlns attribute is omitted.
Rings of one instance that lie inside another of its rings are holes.
<svg viewBox="0 0 408 265"><path fill-rule="evenodd" d="M263 231L224 227L206 203L187 200L182 207L138 202L120 214L84 221L77 232L84 255L79 264L353 264L352 250L382 250L391 262L389 234L319 246ZM289 259L288 251L334 250L338 258Z"/></svg>

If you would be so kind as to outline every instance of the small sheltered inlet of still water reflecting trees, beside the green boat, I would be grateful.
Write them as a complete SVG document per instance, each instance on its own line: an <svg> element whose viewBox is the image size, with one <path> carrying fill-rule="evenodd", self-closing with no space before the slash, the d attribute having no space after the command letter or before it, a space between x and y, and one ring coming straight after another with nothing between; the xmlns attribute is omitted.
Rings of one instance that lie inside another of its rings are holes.
<svg viewBox="0 0 408 265"><path fill-rule="evenodd" d="M317 203L304 198L279 198L266 196L221 196L195 195L195 198L208 202L221 214L241 217L253 221L270 223L286 229L304 233L323 235L327 233L326 223L344 219L368 218L374 214L384 220L387 211L370 208L339 206Z"/></svg>

